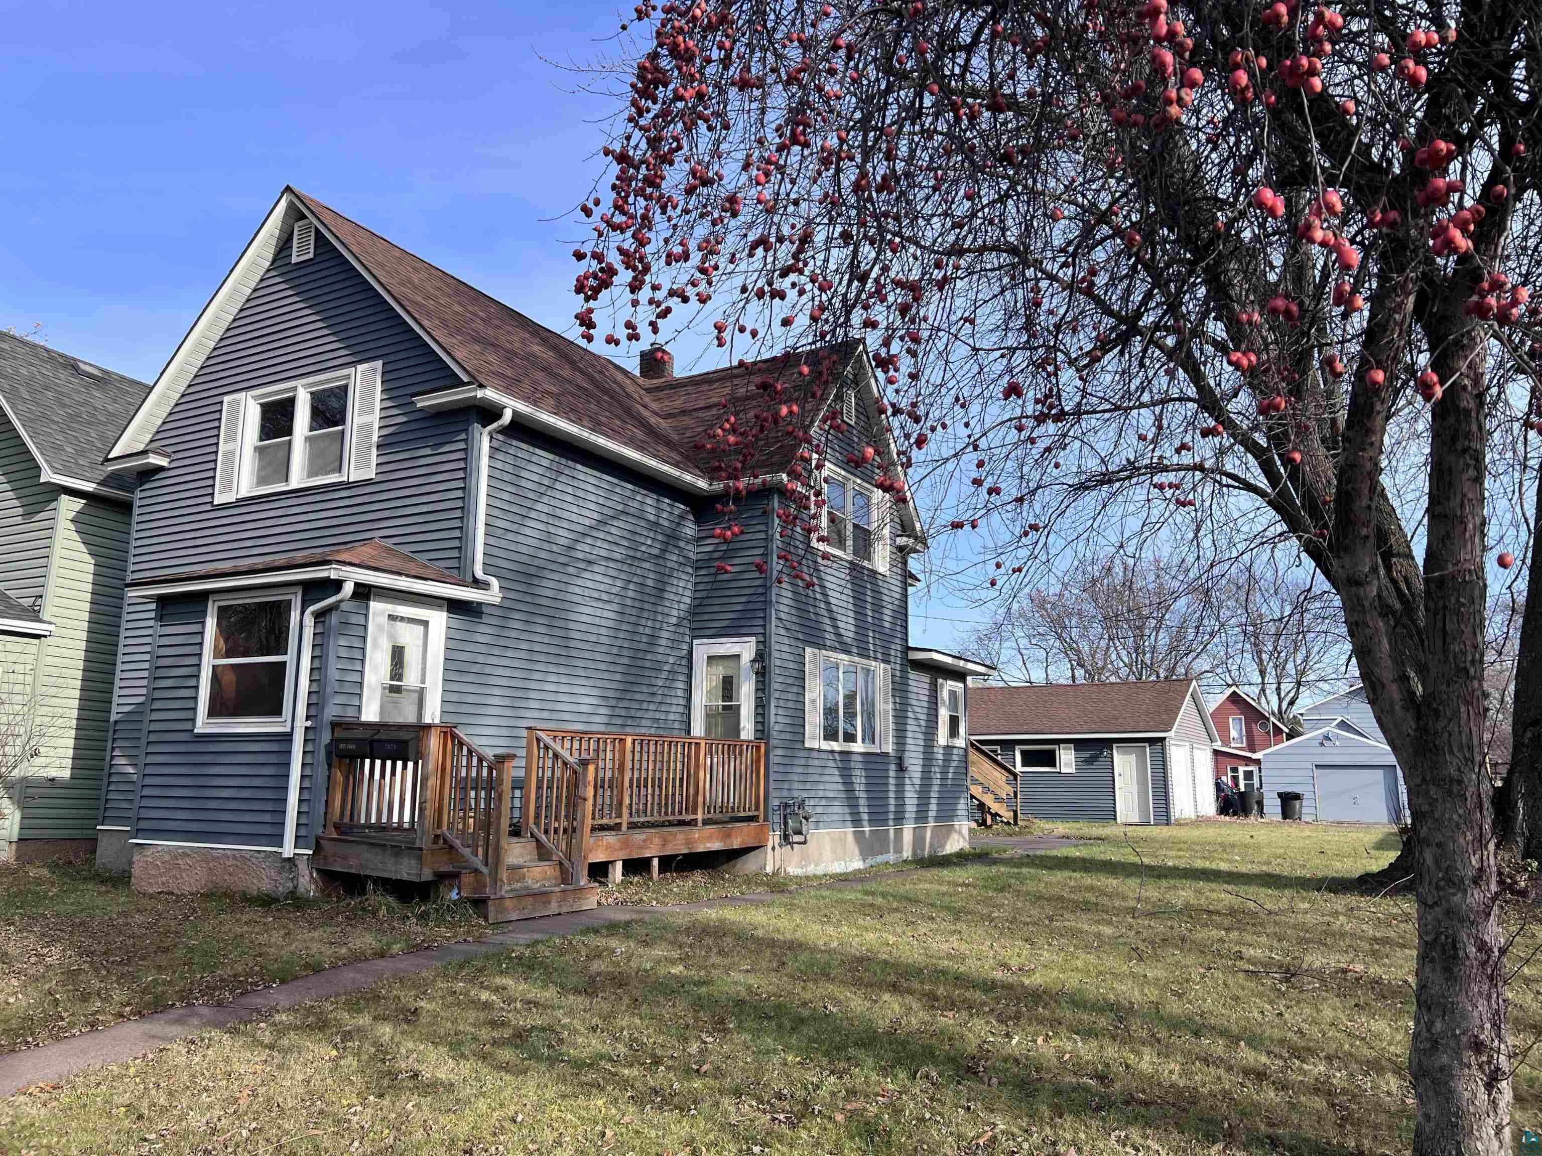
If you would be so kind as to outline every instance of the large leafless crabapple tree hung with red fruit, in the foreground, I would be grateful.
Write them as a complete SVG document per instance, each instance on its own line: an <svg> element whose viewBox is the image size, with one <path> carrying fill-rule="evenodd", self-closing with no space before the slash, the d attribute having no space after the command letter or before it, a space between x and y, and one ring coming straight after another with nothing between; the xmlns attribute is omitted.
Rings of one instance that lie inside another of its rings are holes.
<svg viewBox="0 0 1542 1156"><path fill-rule="evenodd" d="M695 330L746 365L862 339L897 438L862 453L896 501L956 482L934 526L976 543L985 590L1078 519L1224 519L1308 560L1416 822L1414 1148L1508 1151L1483 620L1520 544L1485 510L1539 421L1537 0L634 15L598 69L617 116L580 334ZM766 563L813 583L842 418L803 370L748 371L697 449L748 482L799 444Z"/></svg>

